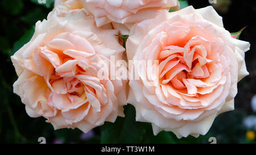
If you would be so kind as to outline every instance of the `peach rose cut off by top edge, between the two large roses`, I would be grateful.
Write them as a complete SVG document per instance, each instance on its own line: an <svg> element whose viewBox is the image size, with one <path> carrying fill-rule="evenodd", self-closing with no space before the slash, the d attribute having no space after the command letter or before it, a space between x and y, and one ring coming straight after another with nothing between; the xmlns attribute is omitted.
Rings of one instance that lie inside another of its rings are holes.
<svg viewBox="0 0 256 155"><path fill-rule="evenodd" d="M114 27L128 35L130 25L154 18L162 10L179 9L177 0L79 0L97 27L113 22ZM123 25L125 24L125 25ZM126 27L125 27L126 26Z"/></svg>

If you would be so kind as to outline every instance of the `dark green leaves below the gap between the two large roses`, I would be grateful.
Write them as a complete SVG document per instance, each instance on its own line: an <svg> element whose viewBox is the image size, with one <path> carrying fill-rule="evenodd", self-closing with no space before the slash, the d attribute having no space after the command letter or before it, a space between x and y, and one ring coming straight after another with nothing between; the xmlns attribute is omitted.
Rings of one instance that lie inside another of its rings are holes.
<svg viewBox="0 0 256 155"><path fill-rule="evenodd" d="M114 123L105 122L101 129L101 143L175 143L170 132L162 131L154 136L150 123L135 121L135 108L128 104L125 118L118 117Z"/></svg>

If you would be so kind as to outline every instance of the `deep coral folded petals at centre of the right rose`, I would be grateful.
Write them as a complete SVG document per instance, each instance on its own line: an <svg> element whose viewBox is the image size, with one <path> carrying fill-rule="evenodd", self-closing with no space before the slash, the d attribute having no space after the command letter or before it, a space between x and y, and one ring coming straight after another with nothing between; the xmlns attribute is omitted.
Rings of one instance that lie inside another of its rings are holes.
<svg viewBox="0 0 256 155"><path fill-rule="evenodd" d="M167 46L159 54L160 79L176 89L191 87L188 79L204 80L210 76L207 51L203 45Z"/></svg>

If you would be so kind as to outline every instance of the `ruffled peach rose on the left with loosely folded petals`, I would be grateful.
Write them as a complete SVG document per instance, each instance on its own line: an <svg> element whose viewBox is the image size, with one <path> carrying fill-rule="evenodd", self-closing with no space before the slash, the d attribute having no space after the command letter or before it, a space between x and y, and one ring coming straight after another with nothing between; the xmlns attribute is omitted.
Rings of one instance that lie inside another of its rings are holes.
<svg viewBox="0 0 256 155"><path fill-rule="evenodd" d="M97 76L100 62L110 63L110 55L122 57L125 49L117 33L97 28L84 11L64 18L54 11L38 21L30 42L11 57L19 76L14 92L27 114L47 118L55 130L77 127L84 132L123 116L126 81Z"/></svg>

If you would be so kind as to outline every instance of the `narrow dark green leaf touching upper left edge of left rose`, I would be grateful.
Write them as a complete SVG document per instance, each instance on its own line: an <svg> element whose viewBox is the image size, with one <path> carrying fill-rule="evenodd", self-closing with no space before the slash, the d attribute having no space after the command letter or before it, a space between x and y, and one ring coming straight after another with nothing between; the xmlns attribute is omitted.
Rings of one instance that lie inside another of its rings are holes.
<svg viewBox="0 0 256 155"><path fill-rule="evenodd" d="M35 32L35 27L32 27L31 29L28 29L28 31L18 40L14 43L13 51L11 52L11 55L13 55L17 50L22 48L23 45L27 44L28 41L32 38Z"/></svg>

